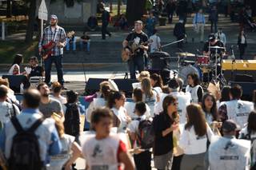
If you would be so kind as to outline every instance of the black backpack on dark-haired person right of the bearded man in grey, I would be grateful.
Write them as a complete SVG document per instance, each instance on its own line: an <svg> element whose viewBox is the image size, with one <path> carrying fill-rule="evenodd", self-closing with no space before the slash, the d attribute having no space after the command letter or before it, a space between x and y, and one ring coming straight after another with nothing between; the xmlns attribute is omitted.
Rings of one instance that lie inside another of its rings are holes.
<svg viewBox="0 0 256 170"><path fill-rule="evenodd" d="M71 136L78 136L80 132L80 114L76 103L66 104L64 128L65 133Z"/></svg>

